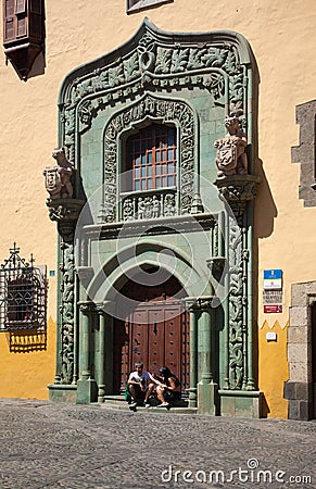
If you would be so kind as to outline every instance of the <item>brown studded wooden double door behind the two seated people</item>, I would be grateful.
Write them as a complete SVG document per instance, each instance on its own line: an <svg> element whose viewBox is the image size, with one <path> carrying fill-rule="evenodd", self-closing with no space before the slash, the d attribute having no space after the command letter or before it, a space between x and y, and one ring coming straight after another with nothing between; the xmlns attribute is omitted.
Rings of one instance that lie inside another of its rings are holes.
<svg viewBox="0 0 316 489"><path fill-rule="evenodd" d="M182 394L189 388L189 314L180 301L139 303L126 321L114 327L114 390L123 392L136 362L159 373L167 366L180 380Z"/></svg>

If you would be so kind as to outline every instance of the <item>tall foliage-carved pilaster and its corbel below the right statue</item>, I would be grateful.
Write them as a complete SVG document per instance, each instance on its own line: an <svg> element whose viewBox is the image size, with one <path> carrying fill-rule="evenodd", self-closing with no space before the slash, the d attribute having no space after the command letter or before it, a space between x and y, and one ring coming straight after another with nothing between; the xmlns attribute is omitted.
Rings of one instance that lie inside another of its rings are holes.
<svg viewBox="0 0 316 489"><path fill-rule="evenodd" d="M248 364L248 337L251 334L249 328L252 327L249 322L252 310L249 305L248 267L252 243L248 242L248 229L251 223L244 217L247 204L256 197L260 183L261 178L254 175L228 175L215 181L220 198L226 200L235 214L235 218L227 216L229 231L225 237L227 240L225 258L228 265L225 389L253 388L249 383Z"/></svg>

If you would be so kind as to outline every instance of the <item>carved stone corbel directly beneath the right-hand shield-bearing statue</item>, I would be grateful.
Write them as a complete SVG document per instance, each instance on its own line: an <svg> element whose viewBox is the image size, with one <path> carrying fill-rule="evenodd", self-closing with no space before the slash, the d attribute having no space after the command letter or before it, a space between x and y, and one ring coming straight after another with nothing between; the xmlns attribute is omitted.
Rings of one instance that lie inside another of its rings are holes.
<svg viewBox="0 0 316 489"><path fill-rule="evenodd" d="M230 205L238 222L242 218L247 202L255 199L261 178L255 175L229 175L217 178L219 197Z"/></svg>

